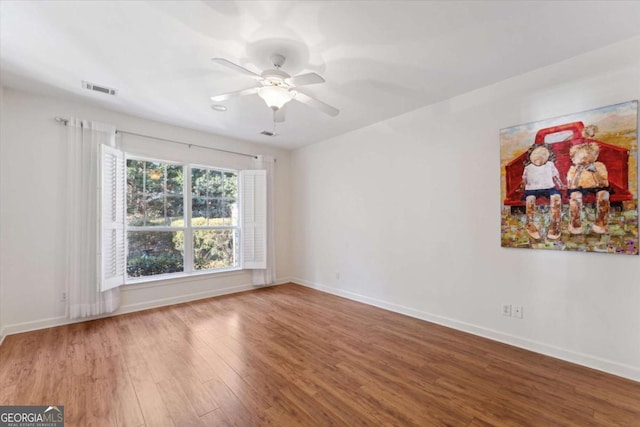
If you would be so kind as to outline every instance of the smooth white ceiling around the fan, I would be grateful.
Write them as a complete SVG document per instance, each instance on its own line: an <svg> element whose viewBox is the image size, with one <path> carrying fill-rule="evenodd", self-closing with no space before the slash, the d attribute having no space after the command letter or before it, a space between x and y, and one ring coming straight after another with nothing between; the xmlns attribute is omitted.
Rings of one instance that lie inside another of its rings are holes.
<svg viewBox="0 0 640 427"><path fill-rule="evenodd" d="M640 1L0 1L2 84L179 126L295 148L640 35ZM273 53L306 93L278 136L256 84ZM118 89L116 97L81 80Z"/></svg>

